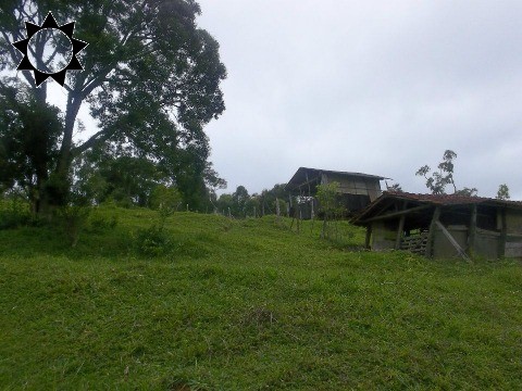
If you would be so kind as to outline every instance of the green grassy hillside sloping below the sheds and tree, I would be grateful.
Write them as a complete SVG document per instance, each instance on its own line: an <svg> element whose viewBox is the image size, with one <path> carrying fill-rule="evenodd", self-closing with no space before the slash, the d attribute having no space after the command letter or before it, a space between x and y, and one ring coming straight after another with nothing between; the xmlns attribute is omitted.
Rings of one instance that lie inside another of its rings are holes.
<svg viewBox="0 0 522 391"><path fill-rule="evenodd" d="M147 256L154 220L99 209L74 248L67 227L0 230L2 389L522 387L519 263L349 251L363 232L347 225L332 245L318 224L192 213Z"/></svg>

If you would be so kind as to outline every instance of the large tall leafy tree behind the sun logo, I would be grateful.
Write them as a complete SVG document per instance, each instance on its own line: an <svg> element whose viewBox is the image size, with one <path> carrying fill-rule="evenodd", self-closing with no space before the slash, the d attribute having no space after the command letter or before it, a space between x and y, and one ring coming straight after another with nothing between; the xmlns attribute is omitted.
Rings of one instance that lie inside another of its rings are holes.
<svg viewBox="0 0 522 391"><path fill-rule="evenodd" d="M65 111L55 113L48 105L48 84L54 81L49 79L37 88L30 71L21 71L15 81L4 78L0 91L5 97L15 83L22 83L30 96L26 101L46 115L54 112L57 118L40 147L51 159L46 162L46 173L35 167L32 173L41 177L35 180L37 195L33 199L38 200L39 212L66 202L73 161L103 143L125 146L133 155L161 165L174 180L190 188L187 193L204 188L204 175L211 168L203 126L224 110L220 81L226 77L226 70L217 42L196 24L200 13L197 2L3 0L0 71L14 70L22 60L11 43L27 37L24 22L41 26L49 11L59 25L75 21L74 37L89 43L77 54L84 71L66 73ZM35 66L49 72L54 53L64 54L71 49L39 35L32 39L28 50L36 59ZM13 99L24 103L17 93ZM79 142L73 135L80 130L77 116L83 104L88 104L99 128ZM11 108L3 104L2 110ZM12 117L12 122L0 124L0 138L12 131L13 123L17 123L20 133L39 131L30 122L22 121L18 112L13 111ZM4 157L10 162L13 159ZM0 169L3 166L9 164L0 163ZM20 178L15 181L23 186Z"/></svg>

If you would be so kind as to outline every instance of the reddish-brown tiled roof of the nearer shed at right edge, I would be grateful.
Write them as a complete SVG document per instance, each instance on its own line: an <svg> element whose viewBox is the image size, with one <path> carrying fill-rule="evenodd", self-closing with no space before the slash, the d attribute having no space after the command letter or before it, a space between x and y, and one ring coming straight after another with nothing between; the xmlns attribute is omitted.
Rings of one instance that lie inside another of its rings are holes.
<svg viewBox="0 0 522 391"><path fill-rule="evenodd" d="M378 214L378 205L389 199L405 200L414 202L418 205L434 205L434 206L456 206L456 205L472 205L482 204L488 206L499 206L509 209L522 210L521 201L498 200L485 197L470 197L459 194L415 194L402 191L383 191L381 197L373 201L370 205L363 209L353 218L353 223L360 223L366 218Z"/></svg>

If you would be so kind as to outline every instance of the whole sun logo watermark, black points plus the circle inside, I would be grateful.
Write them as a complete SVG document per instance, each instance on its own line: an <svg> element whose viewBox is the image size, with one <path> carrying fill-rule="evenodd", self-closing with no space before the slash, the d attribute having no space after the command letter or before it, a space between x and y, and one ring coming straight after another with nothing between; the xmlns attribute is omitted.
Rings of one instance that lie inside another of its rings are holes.
<svg viewBox="0 0 522 391"><path fill-rule="evenodd" d="M33 71L36 87L49 77L63 87L67 71L84 70L76 54L89 45L73 38L75 23L59 26L51 12L41 26L25 22L27 38L11 43L24 54L16 71ZM53 50L49 51L49 46L52 46Z"/></svg>

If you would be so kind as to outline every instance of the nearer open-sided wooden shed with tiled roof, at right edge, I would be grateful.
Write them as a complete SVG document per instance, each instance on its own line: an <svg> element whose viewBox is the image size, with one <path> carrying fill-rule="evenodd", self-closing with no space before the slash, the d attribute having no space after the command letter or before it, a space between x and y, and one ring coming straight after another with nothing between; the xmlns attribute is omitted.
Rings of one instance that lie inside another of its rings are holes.
<svg viewBox="0 0 522 391"><path fill-rule="evenodd" d="M366 227L366 248L372 250L522 257L522 202L386 191L352 222Z"/></svg>

